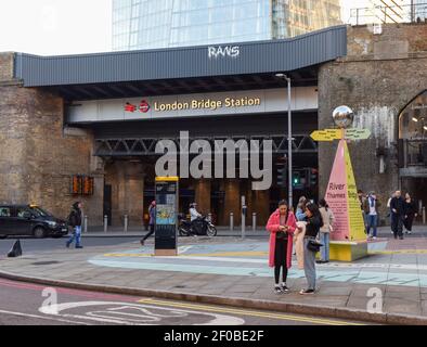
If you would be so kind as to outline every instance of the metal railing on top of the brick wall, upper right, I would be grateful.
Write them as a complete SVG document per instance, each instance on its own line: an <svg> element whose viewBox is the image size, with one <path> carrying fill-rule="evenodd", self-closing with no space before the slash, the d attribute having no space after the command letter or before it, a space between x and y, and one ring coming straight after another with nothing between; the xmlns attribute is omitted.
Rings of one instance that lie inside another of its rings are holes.
<svg viewBox="0 0 427 347"><path fill-rule="evenodd" d="M351 25L427 23L427 2L396 7L351 9L349 22Z"/></svg>

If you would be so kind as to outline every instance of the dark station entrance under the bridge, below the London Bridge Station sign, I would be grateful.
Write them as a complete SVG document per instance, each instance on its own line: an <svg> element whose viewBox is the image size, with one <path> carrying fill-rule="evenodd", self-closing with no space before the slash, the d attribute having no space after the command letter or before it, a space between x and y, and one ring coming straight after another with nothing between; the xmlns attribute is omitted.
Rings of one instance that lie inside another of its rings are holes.
<svg viewBox="0 0 427 347"><path fill-rule="evenodd" d="M316 113L297 113L294 117L293 182L296 206L301 195L318 200L318 149L309 137L316 129ZM163 130L158 121L117 124L114 131L108 125L96 125L95 154L104 159L104 191L108 192L104 195L104 206L109 210L104 213L108 213L113 224L121 224L125 215L129 216L131 226L146 223L146 209L154 200L155 165L159 158L155 154L155 144L160 139L179 141L180 131L185 130L190 133L190 141L204 139L211 142L216 138L272 140L272 167L269 168L272 184L269 189L253 190L251 178L238 177L240 158L236 155L235 178L227 178L225 175L224 178L182 178L179 191L181 214L186 215L190 204L195 202L203 215L211 214L217 226L229 226L231 213L234 224L240 226L241 197L245 196L248 206L246 223L251 224L253 214L256 214L257 224L264 226L277 202L287 198L286 124L284 114L262 114L209 118L197 123L171 120L168 128ZM260 163L262 165L262 159ZM179 162L177 164L179 167ZM212 175L214 171L212 168ZM280 172L285 172L285 177L281 177Z"/></svg>

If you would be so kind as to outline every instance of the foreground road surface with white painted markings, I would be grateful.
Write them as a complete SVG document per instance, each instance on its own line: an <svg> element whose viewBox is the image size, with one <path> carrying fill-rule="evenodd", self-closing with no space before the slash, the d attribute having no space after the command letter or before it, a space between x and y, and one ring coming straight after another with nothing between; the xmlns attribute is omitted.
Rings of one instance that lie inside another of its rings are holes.
<svg viewBox="0 0 427 347"><path fill-rule="evenodd" d="M353 325L320 317L153 297L112 295L0 279L0 325Z"/></svg>

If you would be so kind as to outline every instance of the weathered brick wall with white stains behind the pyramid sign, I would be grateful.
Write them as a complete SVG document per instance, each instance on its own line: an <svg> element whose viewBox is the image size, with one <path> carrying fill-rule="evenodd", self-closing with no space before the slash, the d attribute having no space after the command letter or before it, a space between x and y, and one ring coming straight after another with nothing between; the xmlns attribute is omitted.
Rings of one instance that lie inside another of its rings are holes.
<svg viewBox="0 0 427 347"><path fill-rule="evenodd" d="M334 127L333 110L348 105L355 113L353 127L371 130L368 140L354 141L349 150L358 188L380 194L384 215L389 194L401 188L399 115L426 89L426 24L385 25L380 35L370 26L349 27L348 55L320 68L319 128ZM325 193L336 147L337 143L320 143L320 196ZM380 149L387 153L384 174L379 174Z"/></svg>

